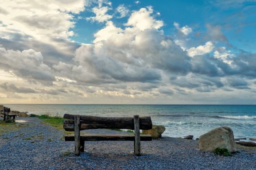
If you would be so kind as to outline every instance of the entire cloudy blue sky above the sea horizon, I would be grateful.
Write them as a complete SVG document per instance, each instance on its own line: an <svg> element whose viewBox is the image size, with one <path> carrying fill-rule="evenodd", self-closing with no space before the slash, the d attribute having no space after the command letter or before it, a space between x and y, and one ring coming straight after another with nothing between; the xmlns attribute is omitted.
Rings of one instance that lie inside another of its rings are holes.
<svg viewBox="0 0 256 170"><path fill-rule="evenodd" d="M2 104L256 104L256 0L0 3Z"/></svg>

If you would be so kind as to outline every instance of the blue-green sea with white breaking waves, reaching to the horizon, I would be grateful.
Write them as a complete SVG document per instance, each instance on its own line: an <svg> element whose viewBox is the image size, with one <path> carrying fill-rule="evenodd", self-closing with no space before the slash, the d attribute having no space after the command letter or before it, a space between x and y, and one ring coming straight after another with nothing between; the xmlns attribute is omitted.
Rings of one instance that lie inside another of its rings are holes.
<svg viewBox="0 0 256 170"><path fill-rule="evenodd" d="M232 128L235 138L256 138L256 105L113 105L113 104L5 104L11 110L33 114L95 116L151 116L166 127L163 136L194 138L220 126Z"/></svg>

